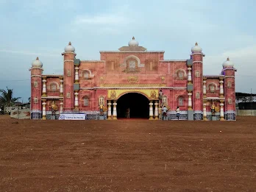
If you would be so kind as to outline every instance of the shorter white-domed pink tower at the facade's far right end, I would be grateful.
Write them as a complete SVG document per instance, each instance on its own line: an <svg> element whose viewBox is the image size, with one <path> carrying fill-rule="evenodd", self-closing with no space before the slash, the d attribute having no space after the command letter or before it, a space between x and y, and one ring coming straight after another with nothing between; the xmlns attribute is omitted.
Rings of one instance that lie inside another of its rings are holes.
<svg viewBox="0 0 256 192"><path fill-rule="evenodd" d="M226 120L235 120L235 71L234 64L227 58L221 74L224 75L224 111Z"/></svg>

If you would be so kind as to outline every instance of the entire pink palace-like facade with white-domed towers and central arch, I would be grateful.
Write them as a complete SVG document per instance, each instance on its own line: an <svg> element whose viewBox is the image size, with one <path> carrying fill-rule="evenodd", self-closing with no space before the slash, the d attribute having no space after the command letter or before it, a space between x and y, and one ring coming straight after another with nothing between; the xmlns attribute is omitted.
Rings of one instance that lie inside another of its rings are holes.
<svg viewBox="0 0 256 192"><path fill-rule="evenodd" d="M31 118L54 119L65 113L99 119L235 120L235 71L228 58L218 75L203 74L202 48L196 43L189 59L165 60L164 51L147 51L135 38L118 51L100 51L100 60L80 60L71 43L65 47L63 74L43 74L37 58L31 71ZM213 114L214 108L214 114Z"/></svg>

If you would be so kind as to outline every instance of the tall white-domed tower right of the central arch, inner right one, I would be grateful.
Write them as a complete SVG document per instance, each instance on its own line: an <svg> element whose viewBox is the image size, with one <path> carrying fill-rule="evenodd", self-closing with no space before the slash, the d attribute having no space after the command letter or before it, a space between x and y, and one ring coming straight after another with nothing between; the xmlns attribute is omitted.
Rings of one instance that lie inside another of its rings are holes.
<svg viewBox="0 0 256 192"><path fill-rule="evenodd" d="M193 82L193 118L203 119L203 59L205 54L196 43L191 49L192 54L192 82Z"/></svg>

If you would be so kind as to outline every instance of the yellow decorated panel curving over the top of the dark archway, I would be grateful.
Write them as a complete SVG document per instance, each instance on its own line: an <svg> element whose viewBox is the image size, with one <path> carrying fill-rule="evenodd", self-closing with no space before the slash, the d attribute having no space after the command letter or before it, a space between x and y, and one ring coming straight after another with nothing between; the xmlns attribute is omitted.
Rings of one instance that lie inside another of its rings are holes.
<svg viewBox="0 0 256 192"><path fill-rule="evenodd" d="M148 99L158 100L158 90L157 89L120 89L120 90L107 90L108 99L118 99L125 93L141 93Z"/></svg>

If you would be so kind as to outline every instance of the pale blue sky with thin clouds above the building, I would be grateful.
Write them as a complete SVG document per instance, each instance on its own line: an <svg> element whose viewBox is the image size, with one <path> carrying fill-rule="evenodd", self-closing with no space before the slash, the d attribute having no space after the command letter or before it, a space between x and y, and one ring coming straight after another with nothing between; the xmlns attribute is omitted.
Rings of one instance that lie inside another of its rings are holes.
<svg viewBox="0 0 256 192"><path fill-rule="evenodd" d="M36 57L43 74L63 74L69 41L80 60L99 60L99 51L118 51L135 36L166 60L189 59L198 42L204 74L220 74L230 57L236 91L256 93L255 9L253 0L0 0L0 88L26 102Z"/></svg>

